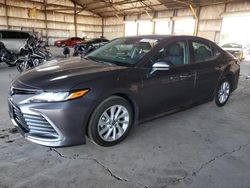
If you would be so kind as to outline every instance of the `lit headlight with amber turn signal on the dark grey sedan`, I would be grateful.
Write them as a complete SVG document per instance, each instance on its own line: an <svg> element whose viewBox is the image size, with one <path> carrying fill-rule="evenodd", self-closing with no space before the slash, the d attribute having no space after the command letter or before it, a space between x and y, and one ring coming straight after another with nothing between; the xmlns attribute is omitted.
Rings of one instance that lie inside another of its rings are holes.
<svg viewBox="0 0 250 188"><path fill-rule="evenodd" d="M61 102L72 99L77 99L85 95L89 90L80 90L74 92L43 92L39 93L33 97L30 97L21 103L32 103L32 102Z"/></svg>

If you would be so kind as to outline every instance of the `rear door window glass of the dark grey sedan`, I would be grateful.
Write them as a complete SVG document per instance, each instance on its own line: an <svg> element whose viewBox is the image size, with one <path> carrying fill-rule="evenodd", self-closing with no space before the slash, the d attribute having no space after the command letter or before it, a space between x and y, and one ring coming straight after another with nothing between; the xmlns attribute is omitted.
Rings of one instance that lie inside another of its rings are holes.
<svg viewBox="0 0 250 188"><path fill-rule="evenodd" d="M209 44L203 42L192 42L194 62L199 63L213 59L213 50Z"/></svg>

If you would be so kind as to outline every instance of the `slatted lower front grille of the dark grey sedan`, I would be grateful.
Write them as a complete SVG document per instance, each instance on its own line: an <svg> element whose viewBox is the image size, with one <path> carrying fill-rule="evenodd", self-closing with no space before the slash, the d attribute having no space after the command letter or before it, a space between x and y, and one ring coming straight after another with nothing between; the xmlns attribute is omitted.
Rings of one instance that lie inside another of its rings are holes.
<svg viewBox="0 0 250 188"><path fill-rule="evenodd" d="M59 138L58 133L43 116L22 113L19 107L11 102L10 109L17 125L30 136L41 139Z"/></svg>

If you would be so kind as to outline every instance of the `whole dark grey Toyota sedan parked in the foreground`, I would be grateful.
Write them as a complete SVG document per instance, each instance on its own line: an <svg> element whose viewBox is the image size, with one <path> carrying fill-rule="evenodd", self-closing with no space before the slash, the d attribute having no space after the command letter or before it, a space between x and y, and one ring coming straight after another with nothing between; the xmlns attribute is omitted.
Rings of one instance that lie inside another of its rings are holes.
<svg viewBox="0 0 250 188"><path fill-rule="evenodd" d="M123 37L84 58L51 62L12 81L11 120L46 146L121 142L132 126L203 101L227 103L240 67L214 42L193 36Z"/></svg>

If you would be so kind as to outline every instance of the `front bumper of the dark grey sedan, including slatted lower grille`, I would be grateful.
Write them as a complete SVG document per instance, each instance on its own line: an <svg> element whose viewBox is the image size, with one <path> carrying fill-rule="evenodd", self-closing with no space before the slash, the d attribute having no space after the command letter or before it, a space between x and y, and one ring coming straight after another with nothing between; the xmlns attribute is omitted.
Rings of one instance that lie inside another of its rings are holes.
<svg viewBox="0 0 250 188"><path fill-rule="evenodd" d="M18 104L9 98L11 121L28 140L51 147L85 143L89 112L83 98L57 103ZM83 105L84 102L84 105Z"/></svg>

